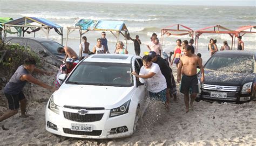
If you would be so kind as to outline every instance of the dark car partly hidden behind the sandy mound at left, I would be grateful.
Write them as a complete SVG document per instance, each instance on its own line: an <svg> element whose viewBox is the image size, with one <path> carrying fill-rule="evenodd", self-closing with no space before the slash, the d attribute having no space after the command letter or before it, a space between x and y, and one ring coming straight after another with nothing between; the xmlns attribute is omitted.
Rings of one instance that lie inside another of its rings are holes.
<svg viewBox="0 0 256 146"><path fill-rule="evenodd" d="M63 47L56 41L43 38L31 38L31 37L6 37L6 43L19 44L25 46L25 48L31 48L31 50L43 54L44 57L48 57L48 60L55 65L62 64L61 59L65 58L65 54L57 52L58 47Z"/></svg>

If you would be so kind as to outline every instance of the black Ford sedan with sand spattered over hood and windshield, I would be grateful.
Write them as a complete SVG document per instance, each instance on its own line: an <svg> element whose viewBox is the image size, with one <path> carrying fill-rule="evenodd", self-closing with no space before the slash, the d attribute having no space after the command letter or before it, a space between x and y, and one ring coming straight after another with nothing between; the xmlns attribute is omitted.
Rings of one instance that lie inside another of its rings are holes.
<svg viewBox="0 0 256 146"><path fill-rule="evenodd" d="M204 65L205 81L199 98L221 102L245 102L255 99L256 53L219 51Z"/></svg>

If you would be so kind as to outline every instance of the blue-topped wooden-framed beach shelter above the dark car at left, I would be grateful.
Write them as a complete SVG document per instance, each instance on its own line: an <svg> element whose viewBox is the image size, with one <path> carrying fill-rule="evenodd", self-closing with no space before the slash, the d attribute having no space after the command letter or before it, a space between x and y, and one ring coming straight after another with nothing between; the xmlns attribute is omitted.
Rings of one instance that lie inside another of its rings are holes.
<svg viewBox="0 0 256 146"><path fill-rule="evenodd" d="M22 17L22 18L18 18L10 22L4 23L3 27L4 27L3 30L5 32L5 36L6 36L6 31L10 30L10 27L15 27L16 29L17 28L21 29L23 37L25 32L27 33L34 32L34 37L35 37L36 35L35 32L42 30L46 34L47 39L49 39L50 30L54 29L56 33L62 36L62 44L63 44L63 27L44 18ZM29 29L31 31L28 31Z"/></svg>

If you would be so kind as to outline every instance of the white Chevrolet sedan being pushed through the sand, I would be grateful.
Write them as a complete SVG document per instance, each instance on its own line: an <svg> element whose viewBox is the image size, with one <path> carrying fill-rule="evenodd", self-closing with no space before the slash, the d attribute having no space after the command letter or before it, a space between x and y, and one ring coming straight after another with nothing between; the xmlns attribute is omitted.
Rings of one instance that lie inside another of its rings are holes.
<svg viewBox="0 0 256 146"><path fill-rule="evenodd" d="M95 54L80 61L49 99L46 130L79 138L117 138L132 135L146 109L146 86L136 55Z"/></svg>

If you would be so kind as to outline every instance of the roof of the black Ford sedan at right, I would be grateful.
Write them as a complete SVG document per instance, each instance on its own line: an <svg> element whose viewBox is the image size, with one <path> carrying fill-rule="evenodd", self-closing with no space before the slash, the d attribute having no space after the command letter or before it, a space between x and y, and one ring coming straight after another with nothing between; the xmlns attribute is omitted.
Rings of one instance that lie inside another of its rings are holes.
<svg viewBox="0 0 256 146"><path fill-rule="evenodd" d="M214 53L214 55L218 56L218 55L226 55L226 56L230 56L230 55L235 55L235 56L254 56L254 58L256 58L256 53L255 52L251 52L251 51L238 51L238 50L225 50L225 51L218 51L216 53Z"/></svg>

